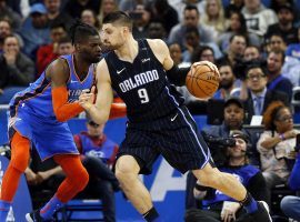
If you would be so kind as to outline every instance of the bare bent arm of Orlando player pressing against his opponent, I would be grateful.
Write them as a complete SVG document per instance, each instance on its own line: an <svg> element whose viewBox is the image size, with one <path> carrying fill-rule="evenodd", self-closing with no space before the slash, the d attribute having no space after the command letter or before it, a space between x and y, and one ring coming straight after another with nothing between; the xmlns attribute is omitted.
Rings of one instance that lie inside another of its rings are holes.
<svg viewBox="0 0 300 222"><path fill-rule="evenodd" d="M89 93L82 93L79 97L79 103L94 122L102 124L109 119L110 107L113 99L109 70L104 59L98 63L96 75L98 89L96 103L93 104L91 102L91 94Z"/></svg>

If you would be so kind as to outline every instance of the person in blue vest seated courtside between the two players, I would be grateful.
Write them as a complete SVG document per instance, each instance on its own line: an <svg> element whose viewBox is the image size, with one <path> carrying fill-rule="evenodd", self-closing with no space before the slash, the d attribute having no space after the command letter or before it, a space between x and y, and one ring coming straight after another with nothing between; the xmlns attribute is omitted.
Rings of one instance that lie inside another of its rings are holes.
<svg viewBox="0 0 300 222"><path fill-rule="evenodd" d="M74 135L79 152L83 155L82 164L88 170L90 181L86 192L100 198L103 203L104 221L116 221L114 191L119 182L110 168L116 160L119 147L103 133L104 124L99 125L91 120L88 131Z"/></svg>

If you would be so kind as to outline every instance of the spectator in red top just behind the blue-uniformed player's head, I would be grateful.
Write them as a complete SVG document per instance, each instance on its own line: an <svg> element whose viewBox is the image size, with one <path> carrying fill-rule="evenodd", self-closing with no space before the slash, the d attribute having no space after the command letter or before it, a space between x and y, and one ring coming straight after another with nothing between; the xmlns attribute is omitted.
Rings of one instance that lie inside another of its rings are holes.
<svg viewBox="0 0 300 222"><path fill-rule="evenodd" d="M67 30L62 23L52 23L50 27L50 37L52 42L50 44L41 46L37 52L37 70L38 75L43 72L47 65L59 57L58 42L61 38L67 37Z"/></svg>

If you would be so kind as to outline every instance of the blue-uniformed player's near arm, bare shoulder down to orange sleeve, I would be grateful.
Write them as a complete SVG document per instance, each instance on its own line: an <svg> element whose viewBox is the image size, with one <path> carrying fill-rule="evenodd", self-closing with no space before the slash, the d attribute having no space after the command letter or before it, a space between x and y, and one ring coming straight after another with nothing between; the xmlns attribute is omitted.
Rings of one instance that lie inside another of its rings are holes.
<svg viewBox="0 0 300 222"><path fill-rule="evenodd" d="M83 111L78 102L68 103L67 81L70 75L69 67L63 59L57 59L47 69L46 75L51 79L51 95L57 120L64 122Z"/></svg>

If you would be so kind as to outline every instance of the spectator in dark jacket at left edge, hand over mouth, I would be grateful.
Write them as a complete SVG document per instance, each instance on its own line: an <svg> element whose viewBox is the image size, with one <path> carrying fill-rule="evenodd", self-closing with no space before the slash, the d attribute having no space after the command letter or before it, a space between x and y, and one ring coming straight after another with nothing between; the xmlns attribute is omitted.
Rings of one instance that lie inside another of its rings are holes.
<svg viewBox="0 0 300 222"><path fill-rule="evenodd" d="M28 87L34 79L34 63L20 52L18 38L4 39L0 54L0 104L9 103L12 95Z"/></svg>

